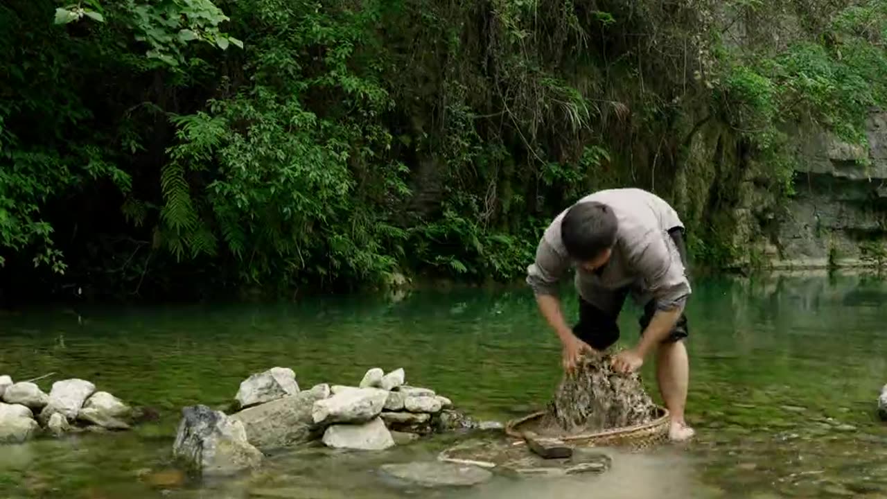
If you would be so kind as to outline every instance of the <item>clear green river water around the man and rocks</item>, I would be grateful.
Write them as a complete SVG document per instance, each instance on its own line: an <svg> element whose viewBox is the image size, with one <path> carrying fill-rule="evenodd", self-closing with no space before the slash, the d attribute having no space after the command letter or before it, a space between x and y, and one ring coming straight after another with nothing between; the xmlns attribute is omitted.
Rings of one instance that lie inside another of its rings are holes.
<svg viewBox="0 0 887 499"><path fill-rule="evenodd" d="M57 373L44 390L82 377L157 408L161 420L0 448L0 497L887 497L887 429L874 415L887 383L885 297L887 284L849 275L697 283L687 344L693 443L611 451L613 469L600 476L498 477L432 492L394 487L376 470L433 459L451 437L373 455L293 452L232 481L181 480L170 471L178 411L224 405L244 377L272 366L294 368L303 387L356 384L378 366L405 368L411 384L482 419L522 416L546 403L560 376L557 341L523 289L5 313L0 374ZM626 308L621 325L633 341L637 310ZM652 365L643 372L655 392Z"/></svg>

